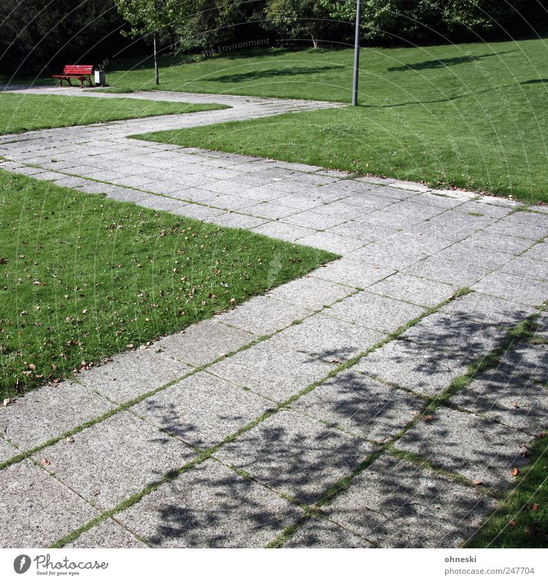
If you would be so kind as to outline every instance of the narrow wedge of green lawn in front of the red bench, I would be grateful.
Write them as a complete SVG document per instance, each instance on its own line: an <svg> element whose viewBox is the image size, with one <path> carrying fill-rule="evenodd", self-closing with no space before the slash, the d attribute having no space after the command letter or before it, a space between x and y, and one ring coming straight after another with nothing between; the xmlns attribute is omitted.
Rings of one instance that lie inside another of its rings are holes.
<svg viewBox="0 0 548 582"><path fill-rule="evenodd" d="M226 107L216 104L169 103L123 97L99 99L0 93L0 135Z"/></svg>

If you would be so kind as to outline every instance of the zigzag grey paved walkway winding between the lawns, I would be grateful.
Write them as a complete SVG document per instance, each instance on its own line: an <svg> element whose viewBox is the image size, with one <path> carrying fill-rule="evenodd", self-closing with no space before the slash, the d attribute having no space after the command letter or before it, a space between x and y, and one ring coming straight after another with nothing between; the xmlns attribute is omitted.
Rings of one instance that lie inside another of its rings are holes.
<svg viewBox="0 0 548 582"><path fill-rule="evenodd" d="M0 409L1 543L463 544L547 425L545 209L127 138L332 106L146 97L232 109L4 136L0 167L342 258Z"/></svg>

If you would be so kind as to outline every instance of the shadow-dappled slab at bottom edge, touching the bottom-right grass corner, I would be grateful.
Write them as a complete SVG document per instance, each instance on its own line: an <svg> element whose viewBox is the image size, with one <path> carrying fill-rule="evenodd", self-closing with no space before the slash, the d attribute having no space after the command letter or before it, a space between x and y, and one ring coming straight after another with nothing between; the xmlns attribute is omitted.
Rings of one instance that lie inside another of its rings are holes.
<svg viewBox="0 0 548 582"><path fill-rule="evenodd" d="M384 455L327 508L329 519L381 548L456 548L495 501Z"/></svg>

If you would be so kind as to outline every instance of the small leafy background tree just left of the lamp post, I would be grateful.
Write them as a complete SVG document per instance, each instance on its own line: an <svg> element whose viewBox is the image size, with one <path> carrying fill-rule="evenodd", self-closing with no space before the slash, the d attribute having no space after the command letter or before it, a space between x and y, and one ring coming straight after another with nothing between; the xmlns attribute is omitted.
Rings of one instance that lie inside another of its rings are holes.
<svg viewBox="0 0 548 582"><path fill-rule="evenodd" d="M269 0L266 25L294 38L306 35L318 47L329 25L329 3L325 0Z"/></svg>

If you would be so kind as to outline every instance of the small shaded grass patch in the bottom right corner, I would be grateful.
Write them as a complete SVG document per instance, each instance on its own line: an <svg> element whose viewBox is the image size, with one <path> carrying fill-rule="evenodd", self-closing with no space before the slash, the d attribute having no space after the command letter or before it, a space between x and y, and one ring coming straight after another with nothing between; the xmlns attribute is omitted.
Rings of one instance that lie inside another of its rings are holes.
<svg viewBox="0 0 548 582"><path fill-rule="evenodd" d="M530 465L469 548L548 548L548 437L534 441Z"/></svg>

